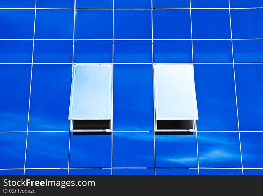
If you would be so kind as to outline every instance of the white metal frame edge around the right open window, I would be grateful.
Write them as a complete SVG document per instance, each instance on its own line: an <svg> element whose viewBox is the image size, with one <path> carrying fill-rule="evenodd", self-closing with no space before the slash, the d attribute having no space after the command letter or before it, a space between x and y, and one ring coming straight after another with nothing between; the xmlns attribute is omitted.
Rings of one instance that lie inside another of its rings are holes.
<svg viewBox="0 0 263 196"><path fill-rule="evenodd" d="M187 119L187 118L156 118L156 110L158 108L156 108L156 104L158 104L158 100L157 100L157 97L156 97L156 92L157 92L157 89L155 88L155 85L156 85L156 78L155 78L155 74L156 74L156 70L155 70L155 66L166 66L166 65L169 65L169 66L182 66L182 65L191 65L192 66L192 75L193 75L193 87L195 89L195 81L194 81L194 69L193 69L193 64L192 63L189 63L189 64L176 64L176 63L167 63L167 64L153 64L153 92L154 92L154 123L155 123L155 132L195 132L197 129L196 129L196 120L198 120L198 110L196 110L197 112L197 118L193 118L193 119ZM194 95L195 95L195 103L196 103L196 109L197 109L197 102L196 102L196 92L194 90ZM157 129L157 120L192 120L193 122L193 129Z"/></svg>

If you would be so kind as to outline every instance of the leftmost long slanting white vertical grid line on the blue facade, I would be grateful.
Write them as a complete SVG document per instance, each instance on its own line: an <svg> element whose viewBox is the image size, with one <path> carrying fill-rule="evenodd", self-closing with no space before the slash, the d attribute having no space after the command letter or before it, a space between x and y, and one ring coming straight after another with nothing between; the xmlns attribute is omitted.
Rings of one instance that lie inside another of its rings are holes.
<svg viewBox="0 0 263 196"><path fill-rule="evenodd" d="M35 17L34 17L34 34L33 34L33 49L32 49L32 62L31 62L31 75L30 75L30 90L29 90L29 102L28 102L28 116L27 116L27 136L26 136L26 148L25 148L25 162L24 162L24 174L27 158L27 138L28 138L28 125L29 125L29 112L30 112L30 99L31 99L31 87L32 87L32 73L33 73L33 58L34 58L34 45L35 45L35 29L36 29L36 1L35 1Z"/></svg>

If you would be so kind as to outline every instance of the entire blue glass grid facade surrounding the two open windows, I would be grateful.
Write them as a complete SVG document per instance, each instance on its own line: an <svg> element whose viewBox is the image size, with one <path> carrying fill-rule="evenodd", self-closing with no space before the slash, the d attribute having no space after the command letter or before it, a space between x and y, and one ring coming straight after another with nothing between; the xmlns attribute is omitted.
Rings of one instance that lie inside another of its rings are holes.
<svg viewBox="0 0 263 196"><path fill-rule="evenodd" d="M0 1L0 175L262 175L262 7ZM74 134L72 66L93 63L113 64L113 129ZM154 132L155 63L194 64L192 134Z"/></svg>

